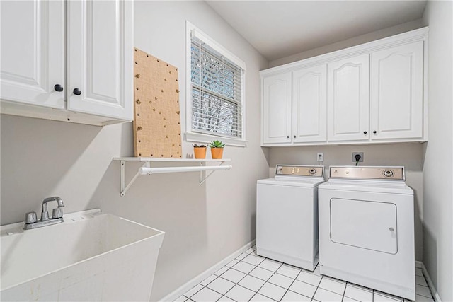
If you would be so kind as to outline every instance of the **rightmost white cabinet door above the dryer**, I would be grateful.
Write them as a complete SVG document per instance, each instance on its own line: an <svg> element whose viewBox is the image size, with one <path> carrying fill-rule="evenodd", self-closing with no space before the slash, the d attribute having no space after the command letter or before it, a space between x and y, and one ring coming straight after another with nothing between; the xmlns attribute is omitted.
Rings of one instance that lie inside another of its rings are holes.
<svg viewBox="0 0 453 302"><path fill-rule="evenodd" d="M372 140L423 137L423 41L371 54Z"/></svg>

